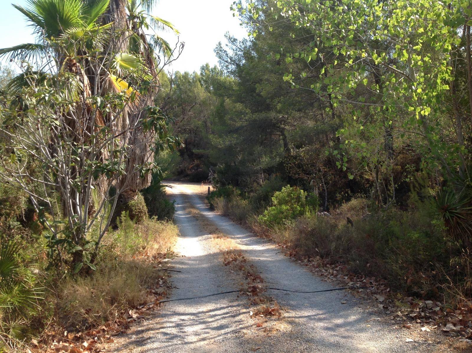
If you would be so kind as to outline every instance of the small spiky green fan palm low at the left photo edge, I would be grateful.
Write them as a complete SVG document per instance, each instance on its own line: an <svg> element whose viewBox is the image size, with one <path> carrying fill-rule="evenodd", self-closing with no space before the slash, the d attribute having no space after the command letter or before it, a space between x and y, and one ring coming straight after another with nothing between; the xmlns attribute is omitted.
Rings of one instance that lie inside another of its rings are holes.
<svg viewBox="0 0 472 353"><path fill-rule="evenodd" d="M44 295L31 271L25 273L20 266L19 253L17 242L6 241L0 249L0 336L10 347L30 333L28 321Z"/></svg>

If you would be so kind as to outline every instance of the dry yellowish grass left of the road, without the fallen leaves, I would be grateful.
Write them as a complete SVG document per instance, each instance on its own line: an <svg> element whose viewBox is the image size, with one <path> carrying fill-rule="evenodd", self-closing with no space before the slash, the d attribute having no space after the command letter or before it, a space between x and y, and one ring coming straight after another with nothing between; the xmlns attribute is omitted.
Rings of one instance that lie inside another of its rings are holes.
<svg viewBox="0 0 472 353"><path fill-rule="evenodd" d="M60 284L60 321L90 327L114 321L148 301L151 291L166 282L167 274L155 267L169 257L177 234L177 226L169 222L149 219L135 225L123 220L120 229L107 235L97 270Z"/></svg>

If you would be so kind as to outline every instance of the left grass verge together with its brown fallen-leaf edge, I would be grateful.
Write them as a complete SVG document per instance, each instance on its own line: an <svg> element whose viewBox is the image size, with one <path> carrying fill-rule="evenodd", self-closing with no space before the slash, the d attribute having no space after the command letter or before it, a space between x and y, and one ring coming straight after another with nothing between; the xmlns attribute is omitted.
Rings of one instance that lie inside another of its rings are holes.
<svg viewBox="0 0 472 353"><path fill-rule="evenodd" d="M98 352L169 294L169 274L178 228L155 218L140 224L123 215L103 241L97 270L84 276L49 277L52 310L31 352Z"/></svg>

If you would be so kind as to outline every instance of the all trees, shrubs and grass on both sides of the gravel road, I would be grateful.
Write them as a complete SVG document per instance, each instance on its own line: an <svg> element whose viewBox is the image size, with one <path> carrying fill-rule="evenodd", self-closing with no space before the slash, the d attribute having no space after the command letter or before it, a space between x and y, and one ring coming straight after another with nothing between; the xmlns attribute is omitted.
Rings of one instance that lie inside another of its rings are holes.
<svg viewBox="0 0 472 353"><path fill-rule="evenodd" d="M248 38L172 75L184 44L157 2L14 5L36 42L0 49L0 351L93 350L157 306L176 176L389 312L472 337L469 2L236 1Z"/></svg>

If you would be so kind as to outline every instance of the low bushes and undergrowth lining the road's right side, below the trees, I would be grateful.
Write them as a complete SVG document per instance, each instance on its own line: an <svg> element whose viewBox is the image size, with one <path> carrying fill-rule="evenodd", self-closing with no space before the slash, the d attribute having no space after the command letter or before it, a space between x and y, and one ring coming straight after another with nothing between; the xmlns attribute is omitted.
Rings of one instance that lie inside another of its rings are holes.
<svg viewBox="0 0 472 353"><path fill-rule="evenodd" d="M385 279L392 290L430 298L442 293L449 301L468 295L467 258L448 236L426 192L421 197L410 194L408 209L353 198L330 215L315 212L317 198L290 186L275 192L271 206L258 213L251 201L261 193L243 198L237 189L225 187L213 192L212 204L301 257L340 262L355 274Z"/></svg>

